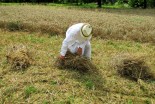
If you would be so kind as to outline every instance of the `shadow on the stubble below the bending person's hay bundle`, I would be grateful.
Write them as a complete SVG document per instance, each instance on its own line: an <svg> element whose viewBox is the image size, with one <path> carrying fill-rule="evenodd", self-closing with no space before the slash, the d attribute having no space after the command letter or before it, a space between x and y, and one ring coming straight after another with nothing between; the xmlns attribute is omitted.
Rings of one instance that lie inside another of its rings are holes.
<svg viewBox="0 0 155 104"><path fill-rule="evenodd" d="M96 94L98 94L98 92L105 92L104 76L95 65L92 66L93 67L90 70L85 72L74 69L66 69L66 71L68 71L67 76L82 83L86 90L94 90Z"/></svg>

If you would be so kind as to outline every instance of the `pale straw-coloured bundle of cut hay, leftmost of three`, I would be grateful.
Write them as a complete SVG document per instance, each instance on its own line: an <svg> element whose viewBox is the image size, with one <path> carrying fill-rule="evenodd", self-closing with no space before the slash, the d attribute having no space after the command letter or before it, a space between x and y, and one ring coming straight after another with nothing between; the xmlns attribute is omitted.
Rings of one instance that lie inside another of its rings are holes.
<svg viewBox="0 0 155 104"><path fill-rule="evenodd" d="M11 68L15 70L25 69L31 62L29 51L23 44L9 46L6 58Z"/></svg>

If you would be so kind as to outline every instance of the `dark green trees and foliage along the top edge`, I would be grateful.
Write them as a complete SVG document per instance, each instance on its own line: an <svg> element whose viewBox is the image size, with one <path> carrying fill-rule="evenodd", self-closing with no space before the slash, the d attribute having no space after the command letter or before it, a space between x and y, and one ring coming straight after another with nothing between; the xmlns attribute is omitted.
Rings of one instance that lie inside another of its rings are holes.
<svg viewBox="0 0 155 104"><path fill-rule="evenodd" d="M154 8L154 0L0 0L5 3L59 3L59 4L71 4L71 5L85 5L95 3L96 7L102 7L102 5L115 5L115 4L127 4L133 8ZM146 5L146 7L145 7Z"/></svg>

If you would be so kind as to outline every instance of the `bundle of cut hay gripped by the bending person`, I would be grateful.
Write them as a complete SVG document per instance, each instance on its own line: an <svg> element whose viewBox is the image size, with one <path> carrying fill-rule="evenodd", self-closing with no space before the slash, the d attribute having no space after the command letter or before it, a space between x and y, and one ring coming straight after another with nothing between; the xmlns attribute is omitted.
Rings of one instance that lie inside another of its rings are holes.
<svg viewBox="0 0 155 104"><path fill-rule="evenodd" d="M61 69L69 68L76 69L82 72L96 69L95 65L93 65L91 60L77 54L72 54L69 51L66 54L65 60L61 60L58 58L55 65Z"/></svg>

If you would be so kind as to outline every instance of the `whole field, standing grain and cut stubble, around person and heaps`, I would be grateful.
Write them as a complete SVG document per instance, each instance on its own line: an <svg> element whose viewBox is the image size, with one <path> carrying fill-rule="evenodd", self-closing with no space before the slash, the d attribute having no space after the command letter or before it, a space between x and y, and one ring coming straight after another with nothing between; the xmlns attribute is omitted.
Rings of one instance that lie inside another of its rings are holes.
<svg viewBox="0 0 155 104"><path fill-rule="evenodd" d="M121 77L114 65L124 56L142 57L155 68L155 10L75 9L41 5L0 6L0 103L154 104L155 81ZM68 26L89 22L95 71L58 69ZM13 71L7 48L24 44L34 64Z"/></svg>

